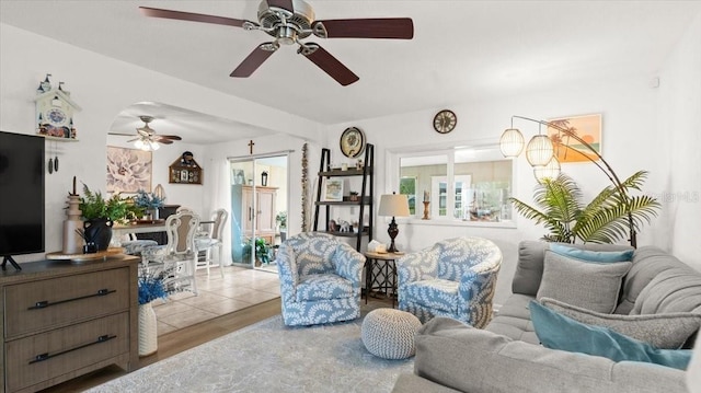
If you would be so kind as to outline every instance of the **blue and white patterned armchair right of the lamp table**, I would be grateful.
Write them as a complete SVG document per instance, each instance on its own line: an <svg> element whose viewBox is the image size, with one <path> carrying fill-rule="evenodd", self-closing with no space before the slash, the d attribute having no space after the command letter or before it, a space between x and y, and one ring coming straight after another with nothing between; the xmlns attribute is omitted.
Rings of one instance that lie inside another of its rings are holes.
<svg viewBox="0 0 701 393"><path fill-rule="evenodd" d="M502 251L480 238L444 240L397 262L399 308L422 323L449 316L482 328L492 320L492 299Z"/></svg>

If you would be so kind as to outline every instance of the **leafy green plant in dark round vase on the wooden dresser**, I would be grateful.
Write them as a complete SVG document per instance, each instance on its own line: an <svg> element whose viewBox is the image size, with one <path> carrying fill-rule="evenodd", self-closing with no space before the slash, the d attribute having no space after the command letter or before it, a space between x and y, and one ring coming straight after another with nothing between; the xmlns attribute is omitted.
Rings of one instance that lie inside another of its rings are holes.
<svg viewBox="0 0 701 393"><path fill-rule="evenodd" d="M83 218L83 239L88 252L105 251L112 240L114 221L123 220L129 212L129 204L114 194L105 199L101 192L92 192L83 184L80 197L80 211Z"/></svg>

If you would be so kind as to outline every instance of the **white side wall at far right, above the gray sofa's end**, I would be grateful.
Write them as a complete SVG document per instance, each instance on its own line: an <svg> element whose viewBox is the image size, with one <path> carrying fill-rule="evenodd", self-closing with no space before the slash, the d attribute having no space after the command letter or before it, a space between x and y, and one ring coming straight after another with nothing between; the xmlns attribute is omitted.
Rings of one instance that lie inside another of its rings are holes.
<svg viewBox="0 0 701 393"><path fill-rule="evenodd" d="M660 78L655 141L668 152L658 161L665 183L658 195L660 236L681 261L701 270L701 15L671 53Z"/></svg>

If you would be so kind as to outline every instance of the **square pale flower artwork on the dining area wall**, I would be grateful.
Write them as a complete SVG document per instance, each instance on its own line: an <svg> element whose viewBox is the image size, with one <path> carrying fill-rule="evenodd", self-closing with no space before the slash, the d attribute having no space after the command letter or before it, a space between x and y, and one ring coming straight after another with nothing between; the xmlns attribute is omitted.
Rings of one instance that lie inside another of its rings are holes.
<svg viewBox="0 0 701 393"><path fill-rule="evenodd" d="M150 151L107 147L107 193L151 192Z"/></svg>

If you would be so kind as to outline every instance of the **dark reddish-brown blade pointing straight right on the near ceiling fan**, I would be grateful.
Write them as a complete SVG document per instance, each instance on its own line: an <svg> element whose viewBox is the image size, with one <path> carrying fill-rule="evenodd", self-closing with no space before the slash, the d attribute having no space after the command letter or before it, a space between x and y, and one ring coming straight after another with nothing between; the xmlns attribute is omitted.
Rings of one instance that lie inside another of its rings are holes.
<svg viewBox="0 0 701 393"><path fill-rule="evenodd" d="M312 31L321 38L412 39L414 22L411 18L334 19L315 21Z"/></svg>

